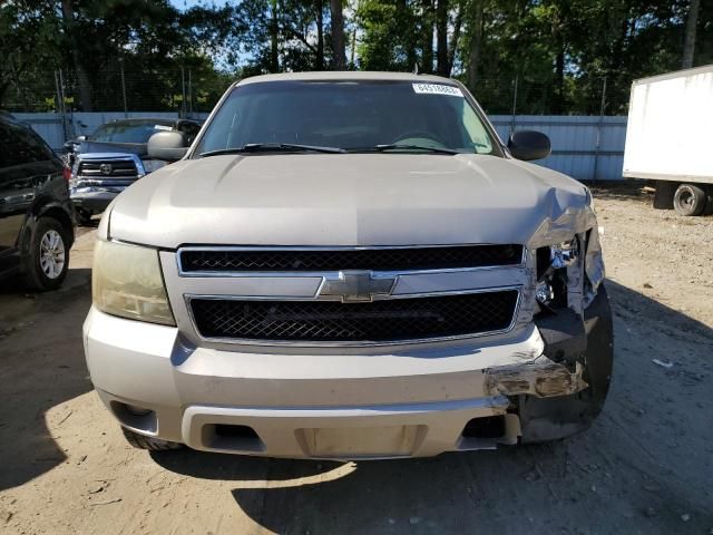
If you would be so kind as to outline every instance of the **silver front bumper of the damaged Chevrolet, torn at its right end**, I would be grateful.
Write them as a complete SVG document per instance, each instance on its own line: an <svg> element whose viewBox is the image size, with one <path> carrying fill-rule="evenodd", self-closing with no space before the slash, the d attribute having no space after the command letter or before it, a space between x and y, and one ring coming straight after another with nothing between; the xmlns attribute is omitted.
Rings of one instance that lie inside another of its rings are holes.
<svg viewBox="0 0 713 535"><path fill-rule="evenodd" d="M578 368L544 354L534 324L497 342L393 354L253 353L192 347L176 328L92 308L84 341L91 379L121 425L208 451L388 458L495 448L518 440L518 395L586 387ZM488 417L500 419L498 436L463 434ZM218 432L225 426L254 436Z"/></svg>

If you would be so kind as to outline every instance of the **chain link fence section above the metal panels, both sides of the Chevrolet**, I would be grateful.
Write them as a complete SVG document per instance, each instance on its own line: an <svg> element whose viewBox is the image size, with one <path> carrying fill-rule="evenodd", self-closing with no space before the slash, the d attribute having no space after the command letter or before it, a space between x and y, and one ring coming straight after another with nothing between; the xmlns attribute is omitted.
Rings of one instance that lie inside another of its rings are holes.
<svg viewBox="0 0 713 535"><path fill-rule="evenodd" d="M90 72L48 71L43 77L10 84L0 94L0 109L21 113L172 111L182 117L211 111L229 84L231 75L197 72L191 68L124 69ZM607 101L606 79L553 80L527 77L484 78L473 94L491 115L589 115L626 113Z"/></svg>

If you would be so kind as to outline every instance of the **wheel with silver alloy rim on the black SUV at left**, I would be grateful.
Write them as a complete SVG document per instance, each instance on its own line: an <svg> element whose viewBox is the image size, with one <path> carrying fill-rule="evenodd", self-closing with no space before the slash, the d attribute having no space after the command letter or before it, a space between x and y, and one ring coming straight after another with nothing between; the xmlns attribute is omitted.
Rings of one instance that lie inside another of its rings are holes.
<svg viewBox="0 0 713 535"><path fill-rule="evenodd" d="M40 217L25 259L25 281L32 290L56 290L69 269L69 236L53 217Z"/></svg>

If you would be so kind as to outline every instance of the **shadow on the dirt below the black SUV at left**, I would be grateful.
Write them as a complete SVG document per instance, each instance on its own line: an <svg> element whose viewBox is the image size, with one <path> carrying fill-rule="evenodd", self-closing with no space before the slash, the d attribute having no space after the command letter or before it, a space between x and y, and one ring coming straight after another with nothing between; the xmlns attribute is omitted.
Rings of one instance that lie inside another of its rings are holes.
<svg viewBox="0 0 713 535"><path fill-rule="evenodd" d="M0 490L67 458L45 415L92 389L81 349L90 276L72 269L47 293L28 293L19 278L0 283Z"/></svg>

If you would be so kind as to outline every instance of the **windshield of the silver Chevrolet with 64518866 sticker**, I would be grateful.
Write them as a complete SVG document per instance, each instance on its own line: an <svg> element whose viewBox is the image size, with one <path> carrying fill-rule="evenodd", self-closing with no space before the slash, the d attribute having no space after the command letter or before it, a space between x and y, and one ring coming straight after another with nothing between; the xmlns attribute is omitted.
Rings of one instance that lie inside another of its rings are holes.
<svg viewBox="0 0 713 535"><path fill-rule="evenodd" d="M237 86L207 125L194 155L253 144L300 144L349 152L375 150L378 146L383 149L384 145L393 145L388 148L394 150L497 150L458 87L412 81L265 81Z"/></svg>

